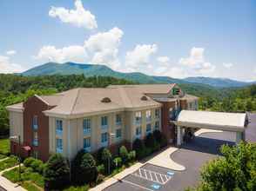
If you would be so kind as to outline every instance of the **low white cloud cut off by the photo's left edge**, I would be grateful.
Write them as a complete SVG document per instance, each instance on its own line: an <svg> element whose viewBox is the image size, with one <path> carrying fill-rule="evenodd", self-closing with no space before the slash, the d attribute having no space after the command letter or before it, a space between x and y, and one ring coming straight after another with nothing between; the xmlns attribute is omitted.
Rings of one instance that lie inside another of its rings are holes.
<svg viewBox="0 0 256 191"><path fill-rule="evenodd" d="M24 70L25 69L21 65L17 63L11 63L10 57L0 56L0 73L18 73Z"/></svg>

